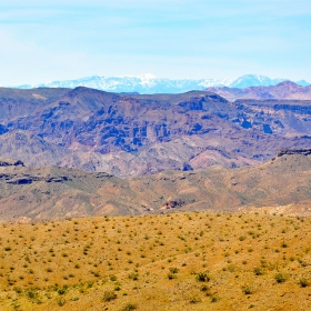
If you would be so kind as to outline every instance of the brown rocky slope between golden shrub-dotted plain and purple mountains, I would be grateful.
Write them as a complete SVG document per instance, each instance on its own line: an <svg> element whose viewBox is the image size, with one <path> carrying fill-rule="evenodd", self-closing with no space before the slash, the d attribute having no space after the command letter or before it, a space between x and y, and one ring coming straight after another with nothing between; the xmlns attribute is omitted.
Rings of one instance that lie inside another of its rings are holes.
<svg viewBox="0 0 311 311"><path fill-rule="evenodd" d="M240 169L215 165L126 180L56 167L0 165L0 220L308 207L310 185L311 156L300 153Z"/></svg>

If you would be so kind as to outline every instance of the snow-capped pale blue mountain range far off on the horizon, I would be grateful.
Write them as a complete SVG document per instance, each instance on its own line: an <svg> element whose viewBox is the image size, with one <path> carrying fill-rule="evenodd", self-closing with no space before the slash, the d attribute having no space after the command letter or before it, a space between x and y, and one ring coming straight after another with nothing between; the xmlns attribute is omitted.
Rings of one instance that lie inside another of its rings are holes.
<svg viewBox="0 0 311 311"><path fill-rule="evenodd" d="M153 74L147 73L138 77L100 77L92 76L78 80L53 81L50 83L41 83L37 86L23 84L16 88L70 88L87 87L101 91L109 92L138 92L146 93L181 93L191 90L203 90L212 87L229 87L229 88L248 88L248 87L269 87L277 86L289 79L270 79L269 77L258 74L245 74L235 80L232 79L183 79L172 80L157 78ZM297 84L305 87L310 86L304 80L295 81Z"/></svg>

